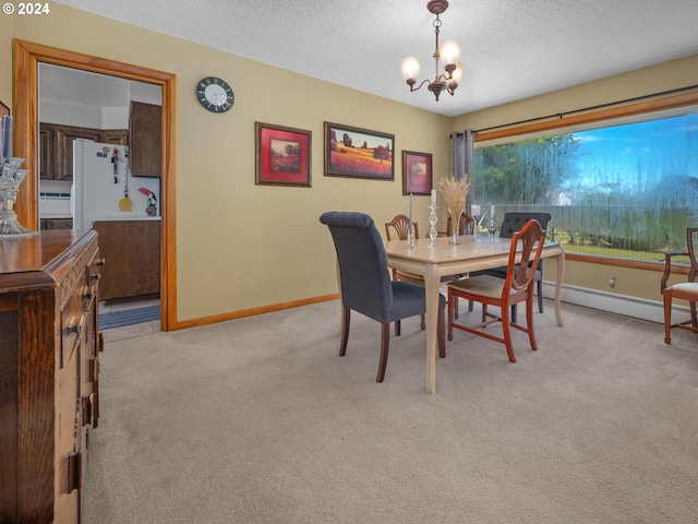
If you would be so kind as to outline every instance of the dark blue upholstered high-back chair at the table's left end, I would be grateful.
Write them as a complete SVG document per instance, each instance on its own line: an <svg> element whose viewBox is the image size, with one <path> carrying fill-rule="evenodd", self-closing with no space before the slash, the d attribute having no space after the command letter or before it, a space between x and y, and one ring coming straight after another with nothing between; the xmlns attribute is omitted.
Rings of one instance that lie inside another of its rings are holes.
<svg viewBox="0 0 698 524"><path fill-rule="evenodd" d="M351 310L382 324L381 358L376 382L383 382L388 360L390 323L426 312L424 287L393 281L387 266L383 239L364 213L329 211L320 222L329 228L337 251L342 308L342 333L339 356L347 352ZM437 341L440 357L446 356L444 308L438 296Z"/></svg>

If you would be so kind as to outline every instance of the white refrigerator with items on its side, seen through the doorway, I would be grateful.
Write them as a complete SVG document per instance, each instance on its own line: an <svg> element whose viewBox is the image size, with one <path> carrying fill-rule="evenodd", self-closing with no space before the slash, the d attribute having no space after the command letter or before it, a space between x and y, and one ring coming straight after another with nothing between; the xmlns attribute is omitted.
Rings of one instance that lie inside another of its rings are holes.
<svg viewBox="0 0 698 524"><path fill-rule="evenodd" d="M159 219L160 179L132 177L128 162L124 145L73 142L73 229L91 229L95 221Z"/></svg>

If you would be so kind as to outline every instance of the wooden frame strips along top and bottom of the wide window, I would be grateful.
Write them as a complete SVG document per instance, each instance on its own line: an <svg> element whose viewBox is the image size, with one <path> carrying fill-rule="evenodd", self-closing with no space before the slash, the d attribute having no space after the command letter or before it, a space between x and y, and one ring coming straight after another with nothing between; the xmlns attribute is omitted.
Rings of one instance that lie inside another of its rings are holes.
<svg viewBox="0 0 698 524"><path fill-rule="evenodd" d="M648 96L641 99L606 104L593 108L552 115L526 122L480 130L474 136L476 147L505 143L507 141L526 140L527 138L550 135L554 132L565 133L580 129L611 127L635 120L662 118L671 110L698 107L698 87L677 90L672 94ZM663 271L662 262L617 259L612 257L581 254L569 252L568 260L587 263L615 265L624 267ZM678 270L679 273L684 271Z"/></svg>

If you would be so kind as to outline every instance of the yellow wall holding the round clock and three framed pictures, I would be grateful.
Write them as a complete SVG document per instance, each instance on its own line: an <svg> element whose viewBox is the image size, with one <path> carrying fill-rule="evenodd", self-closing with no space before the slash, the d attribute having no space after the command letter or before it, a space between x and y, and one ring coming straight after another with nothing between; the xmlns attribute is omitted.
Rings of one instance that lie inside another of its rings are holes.
<svg viewBox="0 0 698 524"><path fill-rule="evenodd" d="M448 170L446 117L62 4L15 16L12 35L177 74L179 321L336 293L334 247L318 216L362 211L383 231L409 211L402 150L432 153L437 176ZM0 44L0 63L11 63L9 39ZM231 84L229 112L198 104L196 83L208 75ZM312 131L312 188L255 186L255 121ZM323 176L325 121L395 134L395 180ZM424 225L428 205L414 198Z"/></svg>

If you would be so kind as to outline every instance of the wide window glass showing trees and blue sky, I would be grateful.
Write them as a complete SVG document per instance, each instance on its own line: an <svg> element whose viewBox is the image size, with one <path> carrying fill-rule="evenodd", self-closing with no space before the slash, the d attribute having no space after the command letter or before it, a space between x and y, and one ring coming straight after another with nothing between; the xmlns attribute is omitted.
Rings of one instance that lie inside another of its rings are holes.
<svg viewBox="0 0 698 524"><path fill-rule="evenodd" d="M534 134L478 135L473 203L493 205L498 221L506 211L551 213L549 237L568 253L663 262L698 225L698 106L591 116Z"/></svg>

